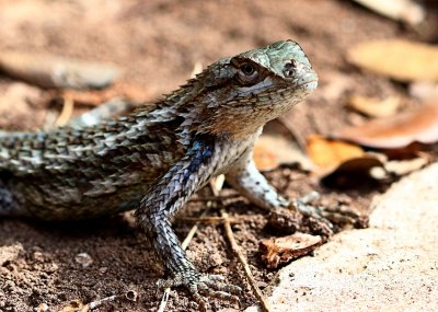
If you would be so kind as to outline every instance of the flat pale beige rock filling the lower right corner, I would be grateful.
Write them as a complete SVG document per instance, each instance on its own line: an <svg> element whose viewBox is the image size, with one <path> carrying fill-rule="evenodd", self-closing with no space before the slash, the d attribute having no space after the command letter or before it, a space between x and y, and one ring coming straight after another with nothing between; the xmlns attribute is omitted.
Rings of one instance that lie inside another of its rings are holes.
<svg viewBox="0 0 438 312"><path fill-rule="evenodd" d="M438 163L406 176L374 200L369 229L336 234L281 269L274 311L436 310L437 176Z"/></svg>

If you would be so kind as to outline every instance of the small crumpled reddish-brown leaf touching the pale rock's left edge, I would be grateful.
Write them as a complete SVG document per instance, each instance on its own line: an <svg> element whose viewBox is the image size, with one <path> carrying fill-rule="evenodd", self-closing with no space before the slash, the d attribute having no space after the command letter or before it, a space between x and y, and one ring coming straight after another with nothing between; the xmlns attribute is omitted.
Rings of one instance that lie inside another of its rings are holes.
<svg viewBox="0 0 438 312"><path fill-rule="evenodd" d="M292 235L267 239L260 243L262 261L268 268L277 268L307 255L323 243L321 236L297 232Z"/></svg>

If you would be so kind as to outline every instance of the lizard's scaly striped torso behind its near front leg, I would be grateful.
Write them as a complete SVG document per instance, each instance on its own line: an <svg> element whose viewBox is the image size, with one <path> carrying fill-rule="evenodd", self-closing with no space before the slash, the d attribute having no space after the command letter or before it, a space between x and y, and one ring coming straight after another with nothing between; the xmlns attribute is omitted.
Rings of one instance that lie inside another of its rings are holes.
<svg viewBox="0 0 438 312"><path fill-rule="evenodd" d="M94 127L0 136L0 212L78 219L135 208L183 153L172 123L137 115Z"/></svg>

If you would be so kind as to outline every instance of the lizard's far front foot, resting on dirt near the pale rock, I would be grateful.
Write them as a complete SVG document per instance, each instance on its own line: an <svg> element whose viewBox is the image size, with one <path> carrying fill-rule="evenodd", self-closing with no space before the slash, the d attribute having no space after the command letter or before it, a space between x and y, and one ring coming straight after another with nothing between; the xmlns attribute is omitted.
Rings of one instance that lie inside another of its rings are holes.
<svg viewBox="0 0 438 312"><path fill-rule="evenodd" d="M353 209L346 208L345 206L341 205L337 207L324 207L310 204L319 198L320 194L318 192L311 192L292 200L289 209L298 210L306 217L311 217L319 221L325 222L330 228L333 228L332 223L354 224L357 228L366 227L366 220L362 218L362 216Z"/></svg>

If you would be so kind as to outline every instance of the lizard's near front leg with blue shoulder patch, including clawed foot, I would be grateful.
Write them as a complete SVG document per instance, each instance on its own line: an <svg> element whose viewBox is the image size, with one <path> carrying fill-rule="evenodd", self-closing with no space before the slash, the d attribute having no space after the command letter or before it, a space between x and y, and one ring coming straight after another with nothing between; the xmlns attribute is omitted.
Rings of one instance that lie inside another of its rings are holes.
<svg viewBox="0 0 438 312"><path fill-rule="evenodd" d="M185 286L201 310L207 307L205 296L238 302L234 294L241 291L237 286L222 282L221 276L201 275L187 258L171 228L172 217L210 178L215 166L214 149L214 143L195 141L186 155L159 180L136 211L139 226L148 232L154 251L173 275L161 286Z"/></svg>

